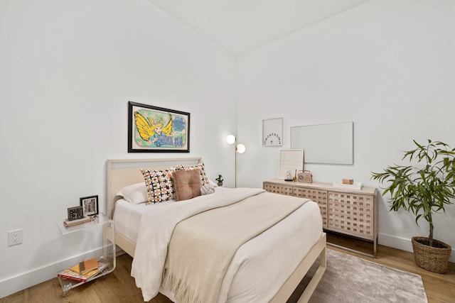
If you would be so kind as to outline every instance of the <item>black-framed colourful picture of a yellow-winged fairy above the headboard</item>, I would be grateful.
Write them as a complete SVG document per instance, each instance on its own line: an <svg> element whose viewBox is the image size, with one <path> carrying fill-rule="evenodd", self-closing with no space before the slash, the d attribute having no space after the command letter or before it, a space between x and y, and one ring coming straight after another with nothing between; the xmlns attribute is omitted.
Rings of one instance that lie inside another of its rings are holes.
<svg viewBox="0 0 455 303"><path fill-rule="evenodd" d="M128 153L189 153L190 113L128 102Z"/></svg>

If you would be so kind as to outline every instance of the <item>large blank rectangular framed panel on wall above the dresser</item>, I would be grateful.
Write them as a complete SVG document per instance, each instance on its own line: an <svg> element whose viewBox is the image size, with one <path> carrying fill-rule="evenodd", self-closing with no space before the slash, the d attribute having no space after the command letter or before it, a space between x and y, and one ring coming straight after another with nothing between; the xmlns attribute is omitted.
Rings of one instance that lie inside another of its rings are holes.
<svg viewBox="0 0 455 303"><path fill-rule="evenodd" d="M305 150L305 163L353 164L354 123L291 127L291 149Z"/></svg>

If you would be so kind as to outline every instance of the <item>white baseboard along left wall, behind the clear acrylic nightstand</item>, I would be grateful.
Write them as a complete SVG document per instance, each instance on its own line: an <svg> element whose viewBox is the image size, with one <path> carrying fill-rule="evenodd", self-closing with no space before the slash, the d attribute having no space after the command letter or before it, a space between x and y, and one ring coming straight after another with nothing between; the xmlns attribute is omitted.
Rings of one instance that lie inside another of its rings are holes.
<svg viewBox="0 0 455 303"><path fill-rule="evenodd" d="M38 285L42 282L51 280L57 277L57 272L65 268L70 268L81 260L87 260L102 255L102 249L92 250L91 252L77 255L74 258L52 263L50 265L37 268L29 272L23 272L14 277L6 278L0 281L0 298L14 294L20 290L25 290L28 287Z"/></svg>

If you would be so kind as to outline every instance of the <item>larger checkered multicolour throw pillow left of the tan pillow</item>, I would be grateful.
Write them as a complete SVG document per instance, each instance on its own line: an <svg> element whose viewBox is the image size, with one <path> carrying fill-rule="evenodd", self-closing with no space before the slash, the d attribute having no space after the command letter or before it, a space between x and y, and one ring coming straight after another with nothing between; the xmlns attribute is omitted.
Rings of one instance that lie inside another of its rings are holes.
<svg viewBox="0 0 455 303"><path fill-rule="evenodd" d="M144 170L141 168L147 187L147 198L149 200L147 204L176 199L176 192L172 184L172 172L174 170L176 167L169 167L166 170Z"/></svg>

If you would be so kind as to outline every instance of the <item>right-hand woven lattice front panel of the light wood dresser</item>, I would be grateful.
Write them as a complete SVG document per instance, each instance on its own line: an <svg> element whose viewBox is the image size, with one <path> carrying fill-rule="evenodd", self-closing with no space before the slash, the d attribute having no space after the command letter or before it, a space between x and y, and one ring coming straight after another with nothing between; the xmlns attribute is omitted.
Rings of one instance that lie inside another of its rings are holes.
<svg viewBox="0 0 455 303"><path fill-rule="evenodd" d="M374 238L372 196L328 192L328 228L352 236Z"/></svg>

